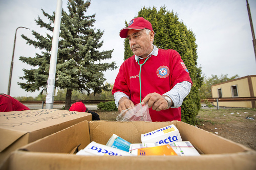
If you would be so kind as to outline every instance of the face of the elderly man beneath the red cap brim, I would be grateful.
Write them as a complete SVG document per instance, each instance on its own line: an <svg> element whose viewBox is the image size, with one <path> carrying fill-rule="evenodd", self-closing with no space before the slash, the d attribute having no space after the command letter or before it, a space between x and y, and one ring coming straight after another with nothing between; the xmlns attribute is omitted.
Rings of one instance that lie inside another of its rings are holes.
<svg viewBox="0 0 256 170"><path fill-rule="evenodd" d="M134 55L145 58L152 52L152 42L154 40L153 31L149 35L147 35L145 29L130 29L127 33L127 38L129 39L130 48Z"/></svg>

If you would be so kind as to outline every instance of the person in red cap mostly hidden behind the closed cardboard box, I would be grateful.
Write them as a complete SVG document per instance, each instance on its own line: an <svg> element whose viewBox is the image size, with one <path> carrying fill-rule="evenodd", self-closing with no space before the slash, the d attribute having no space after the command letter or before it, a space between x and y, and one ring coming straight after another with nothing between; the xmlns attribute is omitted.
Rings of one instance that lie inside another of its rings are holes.
<svg viewBox="0 0 256 170"><path fill-rule="evenodd" d="M98 113L93 111L89 111L88 108L82 103L81 100L76 101L73 105L71 105L70 111L77 111L77 112L87 112L92 114L92 120L100 120Z"/></svg>

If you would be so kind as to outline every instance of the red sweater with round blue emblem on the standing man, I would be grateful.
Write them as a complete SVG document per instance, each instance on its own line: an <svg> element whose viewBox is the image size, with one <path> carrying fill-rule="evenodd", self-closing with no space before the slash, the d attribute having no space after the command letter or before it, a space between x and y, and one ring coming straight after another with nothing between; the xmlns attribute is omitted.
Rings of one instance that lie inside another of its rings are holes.
<svg viewBox="0 0 256 170"><path fill-rule="evenodd" d="M140 60L143 63L144 60ZM135 56L125 60L120 66L112 94L121 91L130 97L134 105L140 103L139 85L140 65ZM177 83L192 83L189 72L180 55L175 50L159 49L158 55L152 55L141 68L141 99L153 92L164 94ZM150 108L152 122L181 120L181 108L169 108L159 112Z"/></svg>

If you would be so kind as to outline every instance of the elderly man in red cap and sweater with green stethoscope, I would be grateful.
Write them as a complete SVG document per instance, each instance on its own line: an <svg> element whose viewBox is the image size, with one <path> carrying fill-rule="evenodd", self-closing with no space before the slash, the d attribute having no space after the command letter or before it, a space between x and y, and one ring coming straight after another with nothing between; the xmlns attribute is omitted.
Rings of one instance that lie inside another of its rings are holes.
<svg viewBox="0 0 256 170"><path fill-rule="evenodd" d="M181 120L192 81L178 52L153 45L155 33L143 17L132 19L119 35L129 39L134 53L120 66L112 90L119 112L148 102L153 122Z"/></svg>

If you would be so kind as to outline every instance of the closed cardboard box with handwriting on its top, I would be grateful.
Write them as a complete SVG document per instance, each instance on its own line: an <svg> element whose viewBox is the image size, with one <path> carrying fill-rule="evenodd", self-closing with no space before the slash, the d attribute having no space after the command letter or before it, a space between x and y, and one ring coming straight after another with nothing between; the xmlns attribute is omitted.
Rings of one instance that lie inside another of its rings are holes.
<svg viewBox="0 0 256 170"><path fill-rule="evenodd" d="M84 120L92 120L91 113L56 109L2 112L0 164L17 148Z"/></svg>

